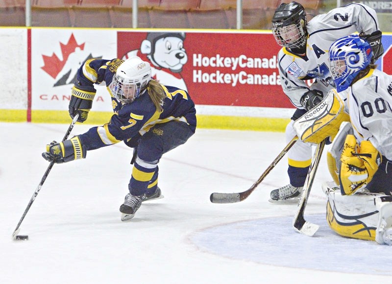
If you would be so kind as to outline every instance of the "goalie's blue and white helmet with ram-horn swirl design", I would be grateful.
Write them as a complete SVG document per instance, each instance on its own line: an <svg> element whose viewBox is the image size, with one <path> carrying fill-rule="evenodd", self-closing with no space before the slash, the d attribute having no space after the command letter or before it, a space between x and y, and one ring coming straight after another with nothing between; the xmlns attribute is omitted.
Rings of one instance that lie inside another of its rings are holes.
<svg viewBox="0 0 392 284"><path fill-rule="evenodd" d="M358 36L337 40L329 49L329 66L338 92L347 89L371 60L371 47Z"/></svg>

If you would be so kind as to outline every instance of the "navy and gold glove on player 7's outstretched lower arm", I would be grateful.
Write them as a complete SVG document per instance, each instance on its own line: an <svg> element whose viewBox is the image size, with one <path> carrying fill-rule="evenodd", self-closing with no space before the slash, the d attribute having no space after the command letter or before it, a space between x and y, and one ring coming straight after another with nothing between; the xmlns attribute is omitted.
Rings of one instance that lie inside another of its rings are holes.
<svg viewBox="0 0 392 284"><path fill-rule="evenodd" d="M86 148L83 147L78 136L63 142L51 142L46 145L46 152L42 153L45 160L56 164L86 158Z"/></svg>

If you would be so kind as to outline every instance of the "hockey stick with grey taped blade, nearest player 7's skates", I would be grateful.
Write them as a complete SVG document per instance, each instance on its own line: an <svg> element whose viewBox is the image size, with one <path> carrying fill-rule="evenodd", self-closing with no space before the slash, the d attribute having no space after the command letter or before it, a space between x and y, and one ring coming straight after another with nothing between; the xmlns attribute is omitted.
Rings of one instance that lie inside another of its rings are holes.
<svg viewBox="0 0 392 284"><path fill-rule="evenodd" d="M290 148L297 142L298 136L295 136L279 153L279 155L273 160L270 166L262 173L259 179L250 187L243 192L238 193L211 193L210 200L212 203L235 203L245 200L250 193L257 188L257 186L264 180L264 178L270 173L270 171L278 164L278 162L283 158L284 155L290 150Z"/></svg>

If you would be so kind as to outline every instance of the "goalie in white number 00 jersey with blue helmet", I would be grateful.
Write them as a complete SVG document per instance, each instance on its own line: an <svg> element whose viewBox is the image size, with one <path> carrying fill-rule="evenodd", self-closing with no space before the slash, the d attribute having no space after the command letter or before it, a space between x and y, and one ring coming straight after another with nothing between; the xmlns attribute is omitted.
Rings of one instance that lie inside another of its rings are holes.
<svg viewBox="0 0 392 284"><path fill-rule="evenodd" d="M369 43L357 35L336 41L329 57L352 129L342 124L331 147L341 149L336 161L327 155L338 184L323 184L328 225L344 237L392 245L392 75L375 69Z"/></svg>

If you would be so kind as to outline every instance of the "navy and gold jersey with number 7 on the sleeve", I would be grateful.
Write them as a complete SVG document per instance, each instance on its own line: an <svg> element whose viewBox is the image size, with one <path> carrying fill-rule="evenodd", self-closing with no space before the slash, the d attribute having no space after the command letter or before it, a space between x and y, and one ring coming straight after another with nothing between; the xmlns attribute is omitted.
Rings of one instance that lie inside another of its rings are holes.
<svg viewBox="0 0 392 284"><path fill-rule="evenodd" d="M94 84L105 82L106 86L109 86L113 75L122 63L120 59L87 60L78 70L78 87L95 91ZM166 93L162 111L157 109L150 99L148 88L143 95L131 103L122 103L112 96L114 115L110 122L93 127L79 136L86 149L98 149L121 141L129 146L135 146L137 140L153 125L171 120L185 122L195 132L196 109L189 94L176 87L161 86ZM110 93L109 88L108 92Z"/></svg>

